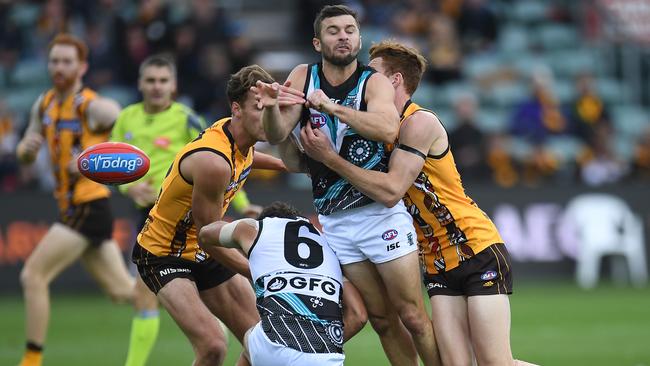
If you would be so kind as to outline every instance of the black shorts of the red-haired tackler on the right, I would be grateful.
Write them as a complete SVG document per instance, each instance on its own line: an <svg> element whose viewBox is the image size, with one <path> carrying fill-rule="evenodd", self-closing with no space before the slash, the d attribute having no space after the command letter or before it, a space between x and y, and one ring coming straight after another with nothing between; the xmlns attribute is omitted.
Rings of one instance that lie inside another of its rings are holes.
<svg viewBox="0 0 650 366"><path fill-rule="evenodd" d="M504 244L492 244L449 272L424 274L429 297L512 293L512 265Z"/></svg>

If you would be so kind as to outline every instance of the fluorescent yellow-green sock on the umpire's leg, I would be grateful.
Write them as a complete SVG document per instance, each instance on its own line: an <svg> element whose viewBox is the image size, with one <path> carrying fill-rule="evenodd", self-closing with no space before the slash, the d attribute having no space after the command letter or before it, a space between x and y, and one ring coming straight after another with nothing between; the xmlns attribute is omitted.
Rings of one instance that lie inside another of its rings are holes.
<svg viewBox="0 0 650 366"><path fill-rule="evenodd" d="M126 356L126 366L144 366L151 353L160 328L158 312L147 312L133 318L131 323L131 339L129 353Z"/></svg>

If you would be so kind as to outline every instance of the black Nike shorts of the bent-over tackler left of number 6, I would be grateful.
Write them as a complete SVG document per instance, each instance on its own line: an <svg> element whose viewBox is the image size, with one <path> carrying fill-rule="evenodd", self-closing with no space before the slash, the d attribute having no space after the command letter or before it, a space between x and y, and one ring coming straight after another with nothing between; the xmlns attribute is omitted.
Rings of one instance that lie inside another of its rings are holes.
<svg viewBox="0 0 650 366"><path fill-rule="evenodd" d="M138 243L133 246L132 260L138 266L144 283L155 294L175 278L192 280L199 291L204 291L219 286L235 275L235 272L212 258L199 263L177 257L157 257Z"/></svg>

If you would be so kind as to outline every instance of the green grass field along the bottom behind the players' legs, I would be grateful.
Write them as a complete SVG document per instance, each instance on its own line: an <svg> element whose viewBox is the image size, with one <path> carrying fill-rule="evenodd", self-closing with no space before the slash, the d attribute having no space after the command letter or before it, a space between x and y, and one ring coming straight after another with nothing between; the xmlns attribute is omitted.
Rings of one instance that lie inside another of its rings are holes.
<svg viewBox="0 0 650 366"><path fill-rule="evenodd" d="M511 297L512 347L540 365L650 366L650 288L521 283ZM131 309L100 295L55 295L45 366L122 365ZM0 365L17 364L24 344L19 297L0 297ZM239 344L226 365L234 364ZM387 365L369 326L346 344L349 365ZM190 365L192 350L164 314L149 365Z"/></svg>

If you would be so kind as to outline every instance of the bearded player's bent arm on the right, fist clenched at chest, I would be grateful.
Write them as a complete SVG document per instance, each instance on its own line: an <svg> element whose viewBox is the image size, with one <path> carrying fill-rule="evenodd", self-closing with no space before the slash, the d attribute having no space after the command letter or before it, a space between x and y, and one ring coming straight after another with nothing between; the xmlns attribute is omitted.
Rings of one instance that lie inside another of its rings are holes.
<svg viewBox="0 0 650 366"><path fill-rule="evenodd" d="M334 103L318 89L307 96L311 108L335 115L361 136L387 144L395 142L399 131L399 114L393 99L395 90L382 74L373 74L366 84L367 110L359 111Z"/></svg>

